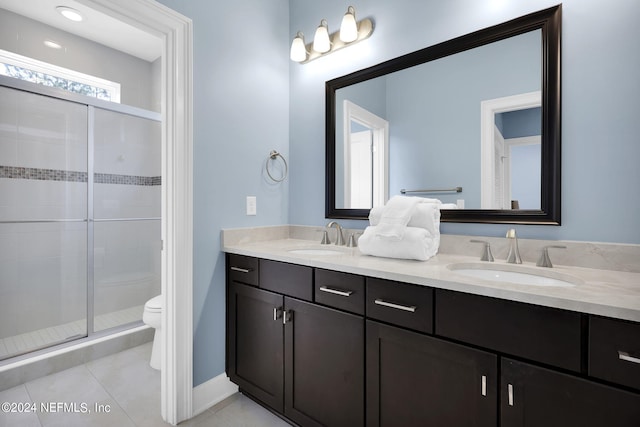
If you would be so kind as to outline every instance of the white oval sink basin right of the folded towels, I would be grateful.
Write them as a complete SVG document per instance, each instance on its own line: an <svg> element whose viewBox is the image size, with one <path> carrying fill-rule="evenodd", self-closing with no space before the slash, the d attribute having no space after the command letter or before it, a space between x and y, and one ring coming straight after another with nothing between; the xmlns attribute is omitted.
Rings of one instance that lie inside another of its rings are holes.
<svg viewBox="0 0 640 427"><path fill-rule="evenodd" d="M475 279L519 285L572 287L582 283L576 277L557 271L515 264L460 263L451 264L447 268L456 274Z"/></svg>

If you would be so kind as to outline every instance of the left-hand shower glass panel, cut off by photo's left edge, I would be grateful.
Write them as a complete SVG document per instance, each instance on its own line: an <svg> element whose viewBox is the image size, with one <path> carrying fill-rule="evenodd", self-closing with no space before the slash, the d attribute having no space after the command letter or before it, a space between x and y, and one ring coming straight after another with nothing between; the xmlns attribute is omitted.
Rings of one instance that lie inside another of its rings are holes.
<svg viewBox="0 0 640 427"><path fill-rule="evenodd" d="M87 107L0 87L0 360L87 336Z"/></svg>

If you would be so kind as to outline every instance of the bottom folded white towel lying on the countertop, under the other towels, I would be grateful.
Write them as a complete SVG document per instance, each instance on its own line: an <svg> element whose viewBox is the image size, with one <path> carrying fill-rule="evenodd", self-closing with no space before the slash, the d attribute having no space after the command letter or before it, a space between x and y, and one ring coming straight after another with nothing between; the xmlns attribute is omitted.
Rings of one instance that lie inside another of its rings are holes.
<svg viewBox="0 0 640 427"><path fill-rule="evenodd" d="M358 239L358 248L365 255L385 258L426 261L438 252L440 233L431 236L424 228L406 227L400 240L378 236L378 226L369 226Z"/></svg>

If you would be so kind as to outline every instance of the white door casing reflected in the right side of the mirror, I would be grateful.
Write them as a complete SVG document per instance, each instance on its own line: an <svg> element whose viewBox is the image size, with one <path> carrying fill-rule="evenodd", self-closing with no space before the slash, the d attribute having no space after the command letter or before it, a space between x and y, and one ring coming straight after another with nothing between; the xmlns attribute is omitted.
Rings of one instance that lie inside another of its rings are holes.
<svg viewBox="0 0 640 427"><path fill-rule="evenodd" d="M480 103L480 208L495 209L495 115L542 105L540 91L489 99Z"/></svg>

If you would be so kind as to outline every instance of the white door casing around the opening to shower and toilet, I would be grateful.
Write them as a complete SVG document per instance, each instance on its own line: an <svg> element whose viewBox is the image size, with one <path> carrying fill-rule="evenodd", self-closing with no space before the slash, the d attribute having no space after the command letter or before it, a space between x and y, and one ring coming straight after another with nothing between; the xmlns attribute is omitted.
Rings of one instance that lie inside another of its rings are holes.
<svg viewBox="0 0 640 427"><path fill-rule="evenodd" d="M77 0L162 39L162 418L192 416L192 21L153 0Z"/></svg>

